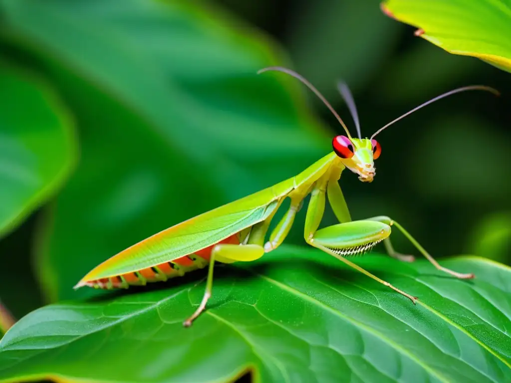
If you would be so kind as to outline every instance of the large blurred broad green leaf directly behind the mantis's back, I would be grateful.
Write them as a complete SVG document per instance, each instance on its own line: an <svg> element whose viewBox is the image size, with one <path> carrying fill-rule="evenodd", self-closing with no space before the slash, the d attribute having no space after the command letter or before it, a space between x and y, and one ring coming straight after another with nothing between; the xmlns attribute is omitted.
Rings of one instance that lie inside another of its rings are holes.
<svg viewBox="0 0 511 383"><path fill-rule="evenodd" d="M104 259L291 177L330 138L264 37L189 2L2 0L6 39L77 116L81 162L38 247L51 299ZM13 37L14 36L14 37Z"/></svg>

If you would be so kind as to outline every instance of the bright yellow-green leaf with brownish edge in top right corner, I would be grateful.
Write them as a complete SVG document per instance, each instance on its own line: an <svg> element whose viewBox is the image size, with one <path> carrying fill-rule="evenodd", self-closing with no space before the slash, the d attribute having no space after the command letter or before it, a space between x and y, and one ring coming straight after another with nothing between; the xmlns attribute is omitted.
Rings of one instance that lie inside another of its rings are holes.
<svg viewBox="0 0 511 383"><path fill-rule="evenodd" d="M448 52L474 56L511 71L511 7L507 0L386 0L382 9L390 17L420 28L416 34Z"/></svg>

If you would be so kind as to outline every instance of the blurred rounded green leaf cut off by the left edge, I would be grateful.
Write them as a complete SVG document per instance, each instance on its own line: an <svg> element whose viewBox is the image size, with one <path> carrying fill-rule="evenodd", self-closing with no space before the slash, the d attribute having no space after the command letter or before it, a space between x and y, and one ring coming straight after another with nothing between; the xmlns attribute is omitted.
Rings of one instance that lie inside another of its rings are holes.
<svg viewBox="0 0 511 383"><path fill-rule="evenodd" d="M53 195L74 159L72 123L55 94L0 63L0 237Z"/></svg>

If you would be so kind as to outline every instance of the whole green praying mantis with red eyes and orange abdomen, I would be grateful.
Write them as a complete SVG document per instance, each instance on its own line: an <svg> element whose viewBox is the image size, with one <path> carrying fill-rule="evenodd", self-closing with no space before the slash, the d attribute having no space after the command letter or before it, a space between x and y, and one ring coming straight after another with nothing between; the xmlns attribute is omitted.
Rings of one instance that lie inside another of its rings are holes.
<svg viewBox="0 0 511 383"><path fill-rule="evenodd" d="M410 113L451 94L466 90L485 90L496 95L499 95L499 92L484 85L456 88L394 119L370 138L362 138L353 96L350 89L340 82L338 90L352 114L358 133L358 138L354 138L334 108L308 80L295 71L280 66L263 68L258 74L271 70L283 72L304 83L334 114L346 136L337 135L333 138L333 152L294 177L202 213L136 243L92 269L75 285L75 289L85 285L97 289L127 289L129 285L166 281L208 266L203 298L195 312L183 322L185 327L189 327L204 311L212 295L215 262L229 264L236 261L252 261L275 250L285 240L296 213L308 195L311 197L305 219L305 242L402 294L414 304L417 297L369 273L347 257L365 253L383 241L388 255L401 261L413 261L412 255L400 254L392 247L389 235L391 227L394 226L436 269L460 279L474 278L474 274L457 273L439 265L408 231L389 217L378 216L352 221L338 181L345 169L357 174L362 182L373 181L376 174L374 161L381 154L381 146L375 136ZM290 199L289 208L266 240L270 223L287 198ZM318 229L327 198L339 224Z"/></svg>

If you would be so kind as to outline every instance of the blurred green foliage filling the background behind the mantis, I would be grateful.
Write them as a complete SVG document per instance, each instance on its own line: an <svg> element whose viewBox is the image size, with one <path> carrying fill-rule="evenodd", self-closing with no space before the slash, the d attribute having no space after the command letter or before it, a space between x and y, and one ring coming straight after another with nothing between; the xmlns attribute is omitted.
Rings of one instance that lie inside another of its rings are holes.
<svg viewBox="0 0 511 383"><path fill-rule="evenodd" d="M453 87L499 89L500 99L458 94L392 126L379 136L375 181L345 173L341 186L354 219L395 218L435 257L511 264L511 77L415 38L377 1L0 0L0 20L0 227L16 227L0 240L0 298L18 318L94 294L71 287L99 261L326 154L342 128L293 79L255 75L277 63L353 127L336 91L345 79L367 136ZM37 147L34 132L44 134ZM23 171L38 183L13 196L5 175ZM21 226L5 218L30 212ZM303 244L304 215L288 243ZM324 224L334 222L328 212Z"/></svg>

